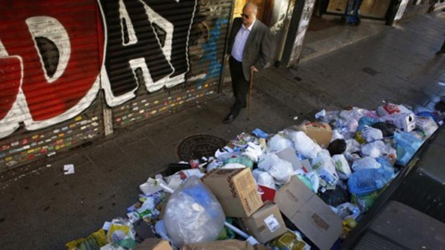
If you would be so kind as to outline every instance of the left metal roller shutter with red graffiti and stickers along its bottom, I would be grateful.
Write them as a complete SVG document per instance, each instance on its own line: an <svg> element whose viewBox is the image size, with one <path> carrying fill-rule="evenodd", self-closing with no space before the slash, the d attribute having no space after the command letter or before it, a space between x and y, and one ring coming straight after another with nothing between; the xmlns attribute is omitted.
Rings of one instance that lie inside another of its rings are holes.
<svg viewBox="0 0 445 250"><path fill-rule="evenodd" d="M91 0L0 6L3 172L103 136L104 36Z"/></svg>

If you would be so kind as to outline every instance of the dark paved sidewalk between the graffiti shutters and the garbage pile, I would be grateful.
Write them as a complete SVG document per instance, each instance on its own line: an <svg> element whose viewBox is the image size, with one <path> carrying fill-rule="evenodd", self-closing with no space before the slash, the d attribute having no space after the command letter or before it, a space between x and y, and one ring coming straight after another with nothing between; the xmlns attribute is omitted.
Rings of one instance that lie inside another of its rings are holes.
<svg viewBox="0 0 445 250"><path fill-rule="evenodd" d="M382 100L431 106L445 94L437 85L445 56L434 56L445 39L443 23L445 13L425 15L301 64L297 71L262 72L255 79L249 121L243 110L233 123L222 124L233 102L226 87L212 101L128 127L65 154L51 167L2 183L1 248L64 249L64 243L125 216L139 185L177 162L177 144L193 134L229 140L256 127L276 132L323 108L372 109ZM64 164L74 164L75 173L64 175Z"/></svg>

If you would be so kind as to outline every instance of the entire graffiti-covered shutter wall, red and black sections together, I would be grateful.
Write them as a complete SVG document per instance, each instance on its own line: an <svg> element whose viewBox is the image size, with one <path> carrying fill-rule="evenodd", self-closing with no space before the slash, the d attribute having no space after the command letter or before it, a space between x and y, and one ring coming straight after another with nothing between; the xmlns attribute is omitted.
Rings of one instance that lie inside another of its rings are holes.
<svg viewBox="0 0 445 250"><path fill-rule="evenodd" d="M0 1L0 172L218 88L230 0Z"/></svg>

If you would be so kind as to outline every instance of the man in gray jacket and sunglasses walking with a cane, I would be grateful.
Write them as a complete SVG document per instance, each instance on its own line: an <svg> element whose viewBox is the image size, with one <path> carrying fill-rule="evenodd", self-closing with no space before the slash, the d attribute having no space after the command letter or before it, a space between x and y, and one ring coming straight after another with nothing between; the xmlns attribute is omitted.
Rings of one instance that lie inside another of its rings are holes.
<svg viewBox="0 0 445 250"><path fill-rule="evenodd" d="M247 3L241 18L233 20L229 36L229 67L235 104L224 123L231 123L246 107L250 72L263 69L271 57L272 34L267 26L256 19L257 7Z"/></svg>

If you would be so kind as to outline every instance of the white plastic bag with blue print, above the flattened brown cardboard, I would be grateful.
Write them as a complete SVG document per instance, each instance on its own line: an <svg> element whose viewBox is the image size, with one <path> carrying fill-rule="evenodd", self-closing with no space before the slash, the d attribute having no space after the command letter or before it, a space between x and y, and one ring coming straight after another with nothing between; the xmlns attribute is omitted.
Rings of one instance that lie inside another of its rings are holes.
<svg viewBox="0 0 445 250"><path fill-rule="evenodd" d="M335 163L331 155L329 155L329 151L323 149L310 163L320 178L325 180L326 183L331 186L337 184L339 177L335 171Z"/></svg>

